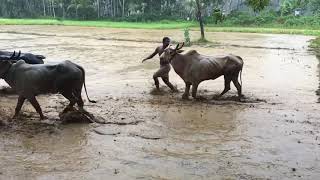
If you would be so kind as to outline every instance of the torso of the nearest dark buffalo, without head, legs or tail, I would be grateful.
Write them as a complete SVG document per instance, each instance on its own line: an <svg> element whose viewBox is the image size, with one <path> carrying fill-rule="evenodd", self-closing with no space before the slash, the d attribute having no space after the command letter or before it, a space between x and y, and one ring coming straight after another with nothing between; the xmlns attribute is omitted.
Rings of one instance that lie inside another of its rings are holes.
<svg viewBox="0 0 320 180"><path fill-rule="evenodd" d="M30 65L18 61L13 66L15 89L23 94L57 93L64 86L72 85L73 81L81 82L82 79L81 70L70 61L55 65Z"/></svg>

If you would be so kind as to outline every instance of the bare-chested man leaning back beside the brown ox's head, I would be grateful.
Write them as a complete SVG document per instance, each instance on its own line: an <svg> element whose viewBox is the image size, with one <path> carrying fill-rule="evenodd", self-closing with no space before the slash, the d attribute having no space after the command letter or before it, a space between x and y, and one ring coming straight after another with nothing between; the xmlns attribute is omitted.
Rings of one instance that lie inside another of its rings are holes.
<svg viewBox="0 0 320 180"><path fill-rule="evenodd" d="M153 58L156 54L159 55L159 57L161 56L161 54L164 52L164 50L170 45L170 38L168 37L164 37L162 39L162 45L158 46L156 48L156 50L147 58L143 59L142 62ZM153 79L154 79L154 83L157 87L157 89L159 90L159 80L158 77L161 77L163 82L173 91L173 92L177 92L178 90L173 87L173 85L170 83L169 81L169 71L170 71L171 67L170 67L170 62L167 62L163 59L160 59L160 69L155 72L153 74Z"/></svg>

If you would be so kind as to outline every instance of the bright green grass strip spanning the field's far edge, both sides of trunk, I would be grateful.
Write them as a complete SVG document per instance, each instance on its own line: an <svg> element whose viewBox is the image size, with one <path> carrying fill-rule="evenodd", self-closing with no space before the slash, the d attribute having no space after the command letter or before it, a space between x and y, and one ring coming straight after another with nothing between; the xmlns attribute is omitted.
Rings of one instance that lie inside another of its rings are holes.
<svg viewBox="0 0 320 180"><path fill-rule="evenodd" d="M114 21L76 21L56 19L0 19L0 25L65 25L65 26L91 26L109 28L131 29L184 29L191 28L199 31L197 22L186 21L159 21L159 22L114 22ZM302 34L320 36L320 29L311 27L288 28L288 27L210 27L206 26L206 32L245 32L245 33L270 33L270 34Z"/></svg>

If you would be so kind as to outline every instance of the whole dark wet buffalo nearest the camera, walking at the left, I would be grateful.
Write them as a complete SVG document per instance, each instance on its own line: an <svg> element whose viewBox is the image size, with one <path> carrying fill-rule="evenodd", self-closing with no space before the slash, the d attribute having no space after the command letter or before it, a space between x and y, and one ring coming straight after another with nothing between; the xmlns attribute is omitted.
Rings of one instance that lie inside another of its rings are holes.
<svg viewBox="0 0 320 180"><path fill-rule="evenodd" d="M39 94L60 93L70 101L69 108L77 103L79 109L83 110L81 91L84 86L89 99L85 85L85 71L71 61L63 61L56 65L31 65L22 60L16 63L3 60L0 61L0 78L4 79L19 95L15 116L27 99L40 114L40 118L44 119L36 100ZM95 102L90 99L89 101Z"/></svg>

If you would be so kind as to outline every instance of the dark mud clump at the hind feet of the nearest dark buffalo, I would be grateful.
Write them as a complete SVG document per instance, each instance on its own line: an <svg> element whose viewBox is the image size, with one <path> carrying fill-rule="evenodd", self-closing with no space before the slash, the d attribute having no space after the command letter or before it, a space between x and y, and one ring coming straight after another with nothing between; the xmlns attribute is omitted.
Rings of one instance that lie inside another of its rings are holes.
<svg viewBox="0 0 320 180"><path fill-rule="evenodd" d="M59 114L62 123L94 123L95 117L89 112L78 109L67 109Z"/></svg>

